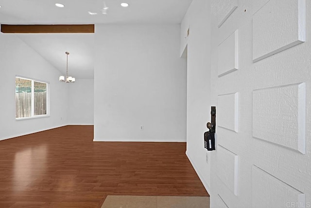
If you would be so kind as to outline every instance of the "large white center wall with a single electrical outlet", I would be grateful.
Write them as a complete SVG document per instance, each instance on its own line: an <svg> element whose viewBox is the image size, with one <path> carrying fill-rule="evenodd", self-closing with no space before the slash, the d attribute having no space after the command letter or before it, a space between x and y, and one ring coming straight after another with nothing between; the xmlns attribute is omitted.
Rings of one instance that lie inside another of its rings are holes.
<svg viewBox="0 0 311 208"><path fill-rule="evenodd" d="M94 140L186 141L180 25L95 28Z"/></svg>

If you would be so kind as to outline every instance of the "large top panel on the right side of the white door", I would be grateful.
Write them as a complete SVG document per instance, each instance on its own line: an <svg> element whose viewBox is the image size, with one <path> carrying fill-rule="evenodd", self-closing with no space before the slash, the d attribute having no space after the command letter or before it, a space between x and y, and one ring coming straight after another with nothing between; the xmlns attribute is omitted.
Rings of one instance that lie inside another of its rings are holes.
<svg viewBox="0 0 311 208"><path fill-rule="evenodd" d="M305 41L305 6L305 0L270 0L253 15L254 62Z"/></svg>

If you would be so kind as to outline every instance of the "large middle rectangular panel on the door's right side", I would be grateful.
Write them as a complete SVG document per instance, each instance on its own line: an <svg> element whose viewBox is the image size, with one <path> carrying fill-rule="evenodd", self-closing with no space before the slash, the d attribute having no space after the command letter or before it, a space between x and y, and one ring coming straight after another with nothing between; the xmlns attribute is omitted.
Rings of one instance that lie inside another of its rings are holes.
<svg viewBox="0 0 311 208"><path fill-rule="evenodd" d="M253 91L253 137L306 153L305 83Z"/></svg>

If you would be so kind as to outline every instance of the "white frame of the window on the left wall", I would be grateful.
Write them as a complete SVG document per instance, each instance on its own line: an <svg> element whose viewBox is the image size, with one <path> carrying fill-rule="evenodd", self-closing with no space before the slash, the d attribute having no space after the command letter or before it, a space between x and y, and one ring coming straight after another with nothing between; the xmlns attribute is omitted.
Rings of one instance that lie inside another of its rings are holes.
<svg viewBox="0 0 311 208"><path fill-rule="evenodd" d="M44 80L39 80L39 79L34 79L34 78L30 78L30 77L20 76L20 75L15 75L15 79L16 78L31 80L31 116L30 117L15 118L15 120L20 121L20 120L50 117L50 82L44 81ZM35 115L35 82L40 82L40 83L44 83L47 85L47 101L46 101L47 111L46 111L46 114L44 114L44 115ZM15 82L15 86L16 86L16 82ZM16 87L15 87L15 90L16 90ZM16 112L16 107L17 106L15 104L15 112Z"/></svg>

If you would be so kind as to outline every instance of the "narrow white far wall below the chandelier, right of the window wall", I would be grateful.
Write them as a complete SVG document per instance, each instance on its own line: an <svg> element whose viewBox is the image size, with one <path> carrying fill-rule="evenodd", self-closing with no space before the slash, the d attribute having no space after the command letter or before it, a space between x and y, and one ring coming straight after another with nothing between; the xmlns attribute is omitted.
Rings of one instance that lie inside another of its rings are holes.
<svg viewBox="0 0 311 208"><path fill-rule="evenodd" d="M94 79L76 79L69 84L68 124L94 124Z"/></svg>

